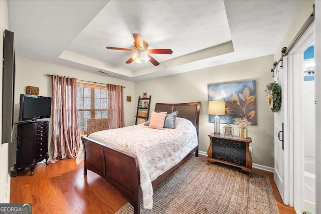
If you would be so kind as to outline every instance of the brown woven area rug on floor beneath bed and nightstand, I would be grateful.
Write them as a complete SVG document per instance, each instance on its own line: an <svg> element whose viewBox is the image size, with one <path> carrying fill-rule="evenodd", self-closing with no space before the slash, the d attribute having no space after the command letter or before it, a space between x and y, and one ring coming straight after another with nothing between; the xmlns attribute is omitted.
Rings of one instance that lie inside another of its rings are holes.
<svg viewBox="0 0 321 214"><path fill-rule="evenodd" d="M133 213L128 202L116 214ZM207 165L192 157L153 188L153 209L141 214L161 213L279 213L269 177L225 164Z"/></svg>

